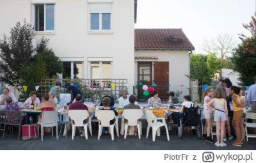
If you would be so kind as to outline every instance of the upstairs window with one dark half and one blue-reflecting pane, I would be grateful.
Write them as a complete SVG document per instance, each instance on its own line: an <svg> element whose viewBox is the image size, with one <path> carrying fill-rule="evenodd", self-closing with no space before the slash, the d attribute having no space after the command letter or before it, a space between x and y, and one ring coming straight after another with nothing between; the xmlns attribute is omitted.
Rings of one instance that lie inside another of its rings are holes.
<svg viewBox="0 0 256 163"><path fill-rule="evenodd" d="M35 4L35 31L54 31L54 4Z"/></svg>

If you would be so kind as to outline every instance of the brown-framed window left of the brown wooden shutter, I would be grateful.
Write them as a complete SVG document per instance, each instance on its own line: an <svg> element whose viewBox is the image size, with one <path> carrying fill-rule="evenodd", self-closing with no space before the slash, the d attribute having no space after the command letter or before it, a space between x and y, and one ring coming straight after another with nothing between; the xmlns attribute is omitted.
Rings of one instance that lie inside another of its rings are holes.
<svg viewBox="0 0 256 163"><path fill-rule="evenodd" d="M152 81L152 62L138 62L138 80Z"/></svg>

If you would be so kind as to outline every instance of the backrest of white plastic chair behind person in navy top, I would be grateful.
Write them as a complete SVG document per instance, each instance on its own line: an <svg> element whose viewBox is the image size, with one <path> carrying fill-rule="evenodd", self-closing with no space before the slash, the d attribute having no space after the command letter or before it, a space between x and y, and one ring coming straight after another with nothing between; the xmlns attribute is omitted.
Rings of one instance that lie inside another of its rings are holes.
<svg viewBox="0 0 256 163"><path fill-rule="evenodd" d="M95 117L100 121L100 125L104 127L109 127L110 123L109 121L113 120L116 116L114 111L102 111L102 110L97 110L95 111Z"/></svg>

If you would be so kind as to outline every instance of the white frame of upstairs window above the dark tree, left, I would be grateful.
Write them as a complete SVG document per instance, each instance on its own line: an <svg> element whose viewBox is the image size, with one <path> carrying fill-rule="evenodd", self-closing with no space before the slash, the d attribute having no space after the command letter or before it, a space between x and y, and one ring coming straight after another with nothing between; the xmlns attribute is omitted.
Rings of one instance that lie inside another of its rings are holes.
<svg viewBox="0 0 256 163"><path fill-rule="evenodd" d="M32 12L31 12L31 24L33 24L33 27L35 27L35 22L36 22L36 4L40 4L40 3L35 3L32 4ZM41 3L42 4L42 3ZM44 4L44 31L35 31L36 34L55 34L55 30L56 30L56 4L55 3L43 3ZM54 30L45 30L45 24L46 24L46 5L54 5Z"/></svg>

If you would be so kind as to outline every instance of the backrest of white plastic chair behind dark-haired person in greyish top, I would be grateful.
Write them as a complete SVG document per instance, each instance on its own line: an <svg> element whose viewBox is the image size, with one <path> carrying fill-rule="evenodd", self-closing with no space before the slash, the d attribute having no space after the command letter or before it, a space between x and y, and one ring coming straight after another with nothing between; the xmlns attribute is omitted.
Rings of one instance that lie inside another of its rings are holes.
<svg viewBox="0 0 256 163"><path fill-rule="evenodd" d="M141 109L124 109L122 116L128 120L128 125L137 125L137 121L143 116Z"/></svg>

